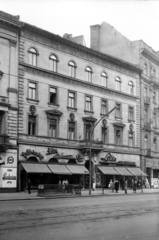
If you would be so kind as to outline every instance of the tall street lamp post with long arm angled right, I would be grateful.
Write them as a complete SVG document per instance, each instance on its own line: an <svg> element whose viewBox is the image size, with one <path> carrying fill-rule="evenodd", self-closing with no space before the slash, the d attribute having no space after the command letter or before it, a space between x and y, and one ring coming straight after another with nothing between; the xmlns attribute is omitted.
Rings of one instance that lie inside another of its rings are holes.
<svg viewBox="0 0 159 240"><path fill-rule="evenodd" d="M94 132L94 129L100 123L100 121L107 117L111 112L113 112L116 109L116 107L112 108L108 113L106 113L104 116L102 116L98 122L93 126L93 128L90 130L90 143L89 143L89 195L91 195L91 157L92 157L92 135Z"/></svg>

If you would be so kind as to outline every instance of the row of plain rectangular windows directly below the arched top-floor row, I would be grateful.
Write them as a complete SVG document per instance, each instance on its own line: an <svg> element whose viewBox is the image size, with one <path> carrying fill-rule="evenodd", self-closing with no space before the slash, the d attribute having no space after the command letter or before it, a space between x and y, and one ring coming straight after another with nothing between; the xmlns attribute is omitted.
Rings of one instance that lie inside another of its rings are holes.
<svg viewBox="0 0 159 240"><path fill-rule="evenodd" d="M29 99L36 100L37 93L36 83L29 82ZM49 103L53 105L58 104L58 89L56 87L49 88ZM68 90L68 107L76 109L77 107L77 92ZM85 111L93 112L93 96L85 95ZM101 114L108 112L108 101L101 100ZM134 107L128 107L128 119L134 121ZM122 118L122 106L116 103L116 117Z"/></svg>

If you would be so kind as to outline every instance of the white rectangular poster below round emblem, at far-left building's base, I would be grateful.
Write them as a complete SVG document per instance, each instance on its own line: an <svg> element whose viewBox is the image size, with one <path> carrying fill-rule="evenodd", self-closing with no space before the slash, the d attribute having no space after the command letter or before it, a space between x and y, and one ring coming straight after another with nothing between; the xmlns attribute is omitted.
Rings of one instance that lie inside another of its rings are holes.
<svg viewBox="0 0 159 240"><path fill-rule="evenodd" d="M16 168L2 168L2 188L15 188L16 180Z"/></svg>

